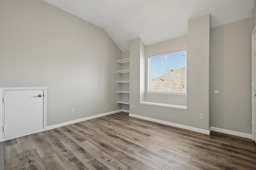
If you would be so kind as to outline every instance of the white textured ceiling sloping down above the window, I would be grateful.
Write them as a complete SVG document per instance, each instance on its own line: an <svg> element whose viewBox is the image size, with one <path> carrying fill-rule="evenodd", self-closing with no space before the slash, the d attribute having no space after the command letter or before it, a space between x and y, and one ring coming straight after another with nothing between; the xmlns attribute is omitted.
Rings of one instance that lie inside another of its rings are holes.
<svg viewBox="0 0 256 170"><path fill-rule="evenodd" d="M210 13L211 27L252 17L255 0L44 0L105 29L122 51L140 37L150 45L187 33L187 21Z"/></svg>

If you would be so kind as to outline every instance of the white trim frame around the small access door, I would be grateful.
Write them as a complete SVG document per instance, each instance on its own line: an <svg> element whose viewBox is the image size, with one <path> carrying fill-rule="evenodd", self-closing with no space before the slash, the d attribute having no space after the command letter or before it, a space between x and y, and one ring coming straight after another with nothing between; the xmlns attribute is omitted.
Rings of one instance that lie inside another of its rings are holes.
<svg viewBox="0 0 256 170"><path fill-rule="evenodd" d="M43 114L44 114L44 123L43 123L43 129L38 129L36 131L31 131L31 132L28 132L28 133L23 133L23 134L20 134L20 135L15 135L15 136L12 136L12 137L8 137L8 138L4 138L4 133L3 133L3 130L2 130L2 127L4 126L4 103L3 103L3 97L4 97L4 91L8 91L8 90L43 90L43 95L44 95L44 98L43 98L43 102L44 102L44 107L43 107ZM47 126L47 100L46 100L46 97L47 97L47 88L46 87L9 87L9 88L0 88L0 118L2 119L0 121L0 142L2 141L7 141L7 140L10 140L10 139L14 139L14 138L17 138L17 137L22 137L22 136L26 136L26 135L30 135L30 134L33 134L33 133L38 133L38 132L42 132L42 131L45 131L46 130L46 126Z"/></svg>

